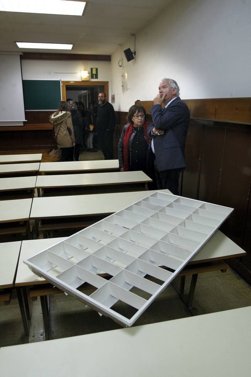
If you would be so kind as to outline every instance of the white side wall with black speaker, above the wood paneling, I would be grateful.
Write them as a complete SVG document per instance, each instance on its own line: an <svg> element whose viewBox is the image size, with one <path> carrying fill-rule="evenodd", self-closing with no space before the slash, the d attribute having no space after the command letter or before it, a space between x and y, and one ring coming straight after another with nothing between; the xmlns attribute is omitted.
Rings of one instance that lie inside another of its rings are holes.
<svg viewBox="0 0 251 377"><path fill-rule="evenodd" d="M250 0L179 0L136 34L136 59L126 61L131 38L112 54L115 110L153 100L163 77L176 80L181 98L250 97ZM121 75L127 73L123 93Z"/></svg>

